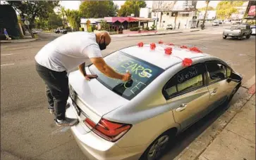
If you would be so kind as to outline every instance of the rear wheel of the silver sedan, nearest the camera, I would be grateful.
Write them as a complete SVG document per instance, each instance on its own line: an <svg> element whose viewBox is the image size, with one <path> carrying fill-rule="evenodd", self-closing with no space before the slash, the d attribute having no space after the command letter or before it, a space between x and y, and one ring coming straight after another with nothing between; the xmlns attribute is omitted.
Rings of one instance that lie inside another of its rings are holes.
<svg viewBox="0 0 256 160"><path fill-rule="evenodd" d="M165 132L151 143L140 157L140 160L158 160L162 156L169 142L175 137L174 132ZM161 145L160 145L161 144Z"/></svg>

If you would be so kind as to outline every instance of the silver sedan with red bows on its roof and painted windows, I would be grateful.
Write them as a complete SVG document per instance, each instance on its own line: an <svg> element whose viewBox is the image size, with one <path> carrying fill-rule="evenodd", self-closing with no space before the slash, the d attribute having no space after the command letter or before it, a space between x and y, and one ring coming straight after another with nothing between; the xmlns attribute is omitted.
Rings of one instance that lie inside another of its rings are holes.
<svg viewBox="0 0 256 160"><path fill-rule="evenodd" d="M107 55L127 83L86 67L97 79L69 74L66 116L79 119L71 131L90 159L158 159L178 133L228 103L242 77L223 60L197 48L144 44Z"/></svg>

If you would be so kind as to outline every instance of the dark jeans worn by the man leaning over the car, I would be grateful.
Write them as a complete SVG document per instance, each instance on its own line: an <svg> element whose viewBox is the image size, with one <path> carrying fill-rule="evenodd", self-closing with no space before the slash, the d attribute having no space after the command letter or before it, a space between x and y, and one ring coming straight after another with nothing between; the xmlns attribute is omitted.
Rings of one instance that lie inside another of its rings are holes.
<svg viewBox="0 0 256 160"><path fill-rule="evenodd" d="M37 73L46 84L49 106L54 107L56 119L64 119L69 95L67 72L56 72L47 67L35 64Z"/></svg>

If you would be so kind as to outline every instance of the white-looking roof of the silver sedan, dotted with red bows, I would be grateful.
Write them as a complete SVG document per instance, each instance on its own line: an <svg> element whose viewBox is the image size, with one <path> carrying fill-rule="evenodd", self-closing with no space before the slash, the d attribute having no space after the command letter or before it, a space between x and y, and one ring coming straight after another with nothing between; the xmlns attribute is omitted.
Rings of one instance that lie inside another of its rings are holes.
<svg viewBox="0 0 256 160"><path fill-rule="evenodd" d="M171 55L166 55L164 48L171 47ZM144 44L143 47L130 46L128 48L123 48L120 51L132 55L135 58L145 60L150 62L152 65L156 65L162 69L168 69L169 67L181 63L184 58L200 58L205 56L210 56L206 53L197 53L194 51L189 51L185 48L180 48L180 46L168 46L164 44L156 44L154 51L150 51L150 44Z"/></svg>

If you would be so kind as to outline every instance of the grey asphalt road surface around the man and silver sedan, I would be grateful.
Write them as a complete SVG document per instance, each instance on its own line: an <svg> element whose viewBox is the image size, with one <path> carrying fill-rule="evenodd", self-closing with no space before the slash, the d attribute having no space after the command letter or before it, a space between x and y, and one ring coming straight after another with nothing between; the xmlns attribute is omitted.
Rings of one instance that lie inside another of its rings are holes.
<svg viewBox="0 0 256 160"><path fill-rule="evenodd" d="M157 42L159 39L178 45L191 45L205 53L226 60L243 74L243 83L255 74L255 36L239 41L222 39L223 27L200 32L113 38L104 55L138 42ZM43 33L42 33L43 34ZM49 36L45 35L45 37ZM51 135L58 128L47 109L44 84L35 72L34 57L44 40L30 43L1 44L1 158L3 159L86 159L70 131ZM75 39L74 39L75 41ZM87 63L88 64L88 63ZM233 98L236 102L239 92ZM217 117L224 112L218 108L198 121L178 137L162 159L173 159Z"/></svg>

